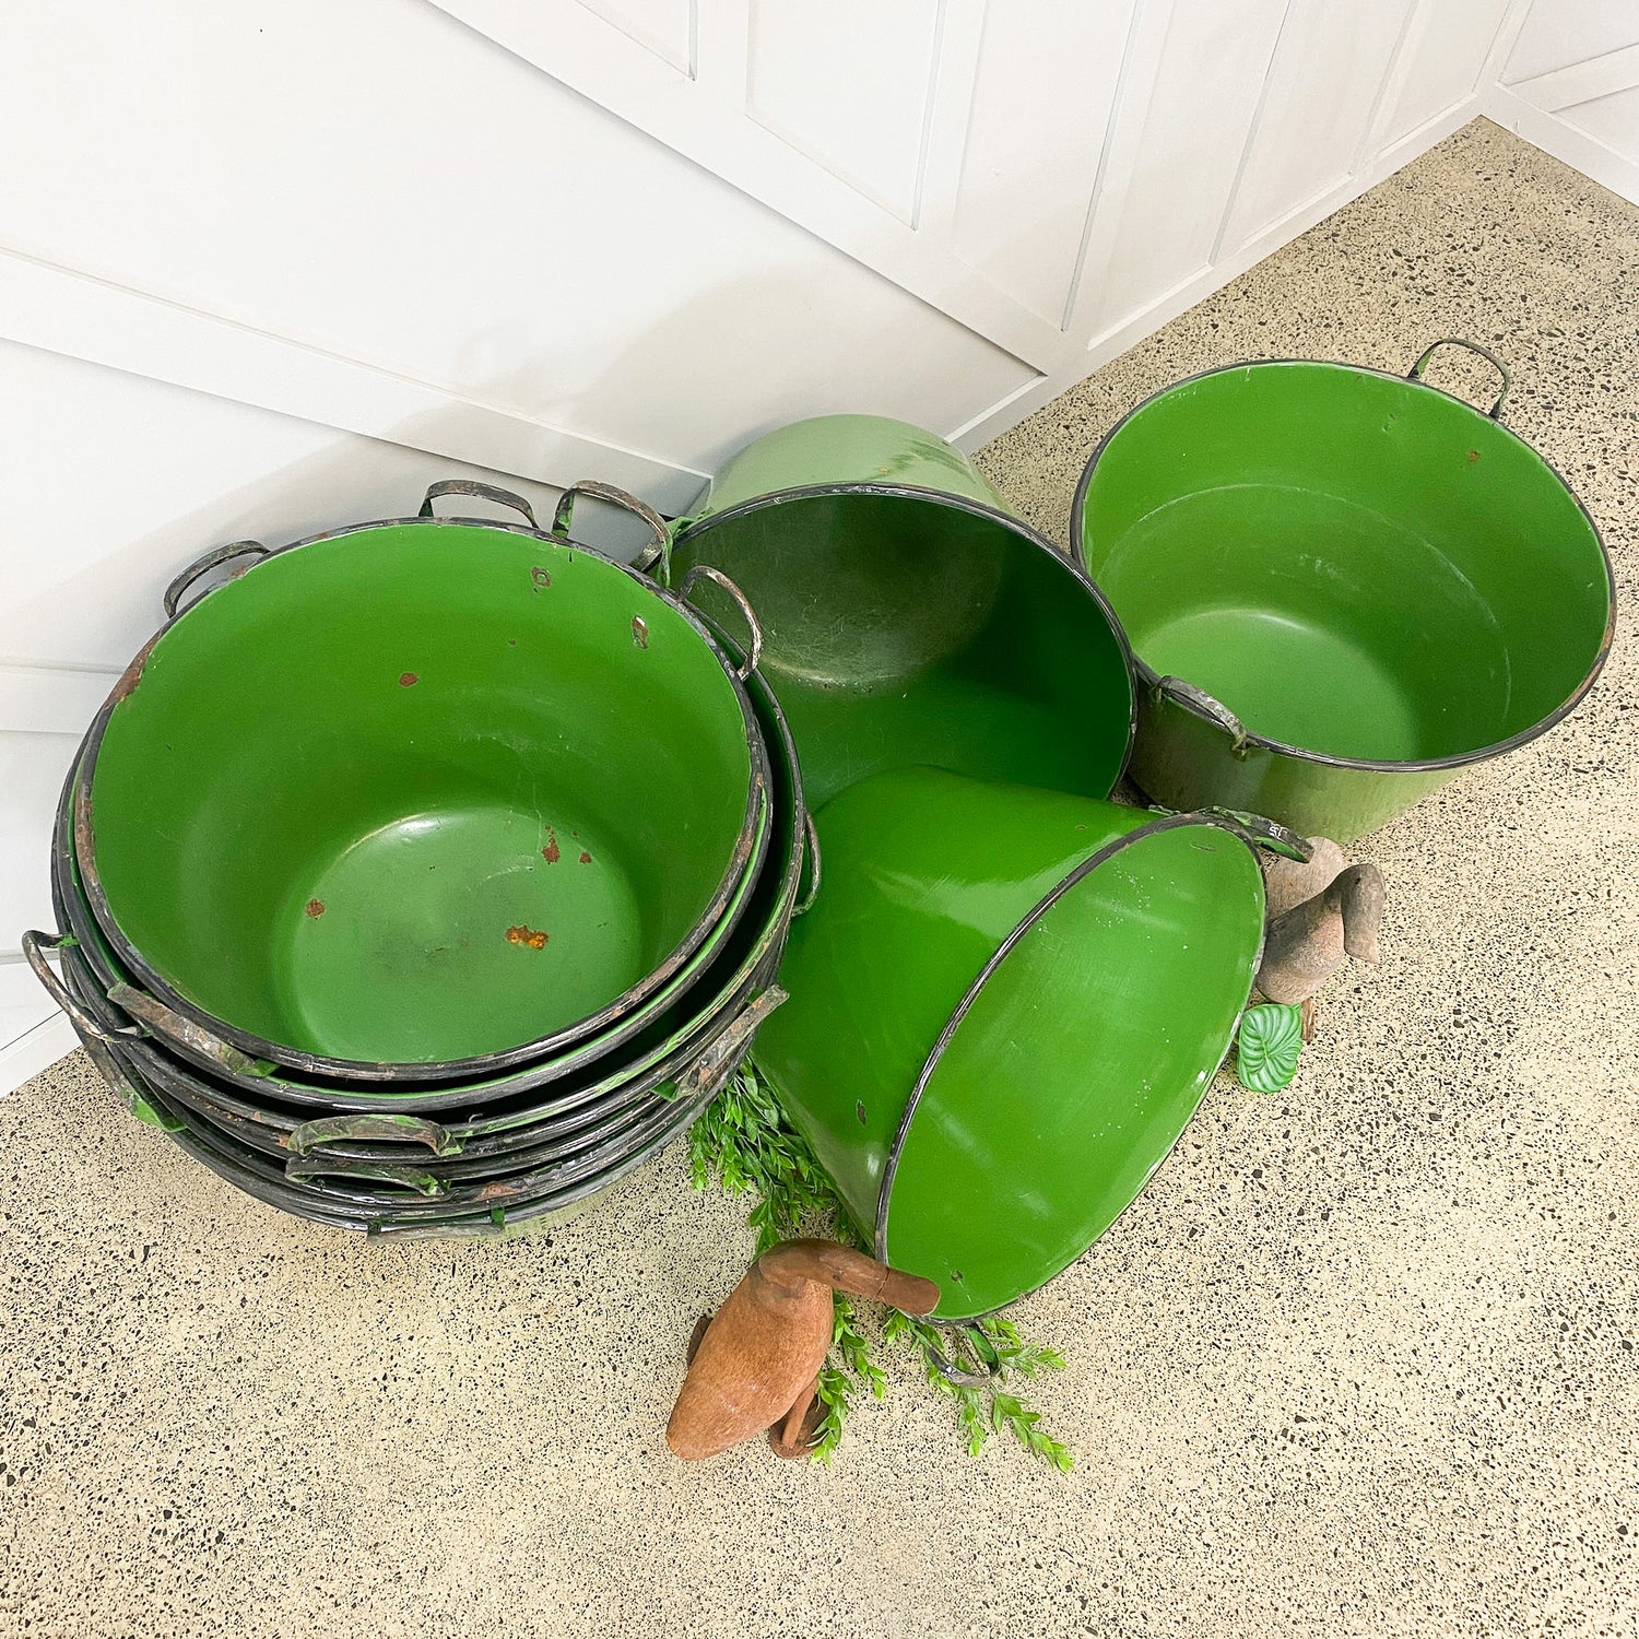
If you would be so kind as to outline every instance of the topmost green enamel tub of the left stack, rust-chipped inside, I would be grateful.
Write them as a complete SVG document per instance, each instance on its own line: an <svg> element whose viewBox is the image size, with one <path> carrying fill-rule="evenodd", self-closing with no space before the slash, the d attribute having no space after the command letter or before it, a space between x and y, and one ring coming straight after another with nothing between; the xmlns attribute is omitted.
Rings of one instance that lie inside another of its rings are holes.
<svg viewBox="0 0 1639 1639"><path fill-rule="evenodd" d="M767 757L724 651L567 503L544 534L433 516L451 488L241 546L92 729L87 898L216 1062L433 1083L606 1046L747 901Z"/></svg>

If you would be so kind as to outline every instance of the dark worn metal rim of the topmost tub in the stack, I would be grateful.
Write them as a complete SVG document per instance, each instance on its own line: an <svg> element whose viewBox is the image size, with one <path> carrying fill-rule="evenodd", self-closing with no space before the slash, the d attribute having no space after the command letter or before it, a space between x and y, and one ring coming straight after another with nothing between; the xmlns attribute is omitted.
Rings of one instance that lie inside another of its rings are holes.
<svg viewBox="0 0 1639 1639"><path fill-rule="evenodd" d="M577 1041L598 1033L605 1024L613 1024L624 1019L631 1011L647 1001L656 990L662 988L698 951L701 942L711 929L721 921L723 911L728 908L734 897L734 888L739 885L741 879L747 870L754 870L767 849L769 833L772 829L770 823L759 823L760 816L769 815L769 765L767 765L767 749L762 741L762 733L757 728L756 715L751 710L751 700L746 695L746 688L734 672L734 665L729 662L723 651L723 646L716 638L706 629L700 615L692 610L682 598L672 593L669 588L649 580L646 575L631 569L626 564L618 564L615 559L603 557L600 552L593 552L588 547L577 546L574 541L564 539L562 536L546 534L541 529L528 529L523 524L497 523L488 518L379 518L370 523L356 523L343 529L326 529L321 534L305 536L300 541L292 541L288 546L275 547L261 559L246 574L254 574L264 562L275 557L282 557L285 552L295 552L303 546L315 546L321 541L336 541L352 534L362 534L369 529L385 529L410 526L420 529L439 529L439 528L480 528L480 529L497 529L506 534L521 534L529 539L546 543L552 547L569 552L583 552L587 557L597 559L606 564L610 569L618 570L626 575L634 585L641 587L649 595L659 598L662 603L670 606L677 615L680 615L706 644L711 654L716 657L718 665L723 669L723 675L734 693L734 700L741 711L741 728L746 736L746 749L751 762L751 779L747 782L746 793L746 813L741 820L739 841L736 842L728 867L718 883L716 892L711 900L700 913L695 924L683 936L682 942L656 967L651 974L646 974L636 985L628 992L616 997L613 1001L606 1003L600 1011L588 1015L583 1019L577 1019L574 1024L556 1031L551 1036L543 1036L529 1042L521 1042L515 1047L502 1049L500 1052L475 1054L465 1059L446 1059L428 1064L379 1064L372 1060L359 1059L331 1059L323 1054L303 1052L297 1047L287 1047L280 1042L267 1041L262 1036L254 1036L249 1031L238 1029L223 1019L213 1018L198 1003L195 1003L184 992L170 985L164 975L161 975L154 967L143 960L136 947L125 938L120 929L118 921L113 916L113 910L108 905L108 898L103 893L102 877L97 872L95 859L95 824L92 815L92 780L95 777L97 754L102 749L103 734L108 728L108 720L115 708L125 698L131 688L136 687L141 677L143 665L146 664L154 646L164 634L175 626L179 621L187 620L200 605L203 605L213 592L202 593L192 603L187 605L174 620L167 621L159 631L143 646L136 659L126 669L125 675L115 683L107 703L97 713L92 723L90 733L85 736L85 747L79 762L79 775L75 783L75 854L79 857L80 882L85 887L85 895L90 900L92 913L97 918L97 924L103 929L108 942L120 954L120 959L131 969L133 974L141 977L143 983L151 988L162 1001L175 1008L184 1018L192 1019L211 1034L220 1036L223 1041L231 1042L243 1052L247 1052L256 1059L272 1059L275 1064L287 1064L292 1069L306 1072L308 1075L334 1075L339 1078L365 1080L365 1082L434 1082L434 1080L457 1080L461 1077L475 1077L490 1070L502 1070L511 1065L524 1064L531 1059L549 1057L556 1054L561 1047L572 1047ZM243 579L243 577L241 577ZM84 841L87 846L80 847L80 815L84 813Z"/></svg>

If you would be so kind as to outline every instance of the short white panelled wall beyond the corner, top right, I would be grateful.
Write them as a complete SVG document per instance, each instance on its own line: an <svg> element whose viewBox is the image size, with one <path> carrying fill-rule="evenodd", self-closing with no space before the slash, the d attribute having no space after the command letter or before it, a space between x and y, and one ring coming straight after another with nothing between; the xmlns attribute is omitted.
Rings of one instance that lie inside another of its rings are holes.
<svg viewBox="0 0 1639 1639"><path fill-rule="evenodd" d="M1485 111L1639 203L1639 5L1534 0Z"/></svg>

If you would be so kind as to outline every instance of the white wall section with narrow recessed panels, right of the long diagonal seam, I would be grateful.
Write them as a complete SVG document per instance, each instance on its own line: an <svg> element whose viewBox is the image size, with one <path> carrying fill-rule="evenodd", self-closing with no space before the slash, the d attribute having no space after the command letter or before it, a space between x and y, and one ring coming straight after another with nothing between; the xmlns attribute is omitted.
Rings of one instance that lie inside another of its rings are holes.
<svg viewBox="0 0 1639 1639"><path fill-rule="evenodd" d="M1028 365L972 443L1477 111L1508 0L438 3Z"/></svg>

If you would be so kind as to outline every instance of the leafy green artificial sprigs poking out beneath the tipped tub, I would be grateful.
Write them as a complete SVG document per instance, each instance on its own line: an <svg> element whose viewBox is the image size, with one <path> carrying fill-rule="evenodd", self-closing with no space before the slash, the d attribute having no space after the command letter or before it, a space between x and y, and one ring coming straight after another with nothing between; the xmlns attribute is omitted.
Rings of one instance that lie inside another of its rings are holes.
<svg viewBox="0 0 1639 1639"><path fill-rule="evenodd" d="M821 1236L870 1252L836 1185L749 1064L729 1078L695 1123L688 1162L695 1188L716 1178L731 1195L757 1196L746 1219L757 1231L757 1255L795 1236ZM1054 1349L1026 1344L1010 1319L992 1314L965 1326L939 1328L893 1310L880 1341L919 1355L929 1385L954 1401L974 1455L993 1432L1006 1432L1060 1472L1075 1464L1067 1447L1042 1432L1041 1413L1006 1387L1010 1378L1060 1369L1064 1357ZM964 1355L962 1362L957 1364L952 1354ZM820 1369L824 1416L813 1454L821 1462L829 1462L838 1449L860 1388L882 1400L888 1380L877 1365L874 1339L862 1329L859 1310L838 1293L831 1352Z"/></svg>

